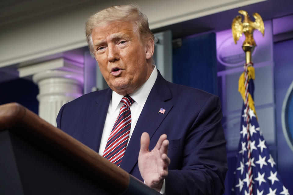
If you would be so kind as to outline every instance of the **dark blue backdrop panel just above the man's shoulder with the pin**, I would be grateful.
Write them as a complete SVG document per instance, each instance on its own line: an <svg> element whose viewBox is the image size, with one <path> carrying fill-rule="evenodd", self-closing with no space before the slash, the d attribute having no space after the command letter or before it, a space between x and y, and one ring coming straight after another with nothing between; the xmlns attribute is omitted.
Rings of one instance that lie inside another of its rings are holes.
<svg viewBox="0 0 293 195"><path fill-rule="evenodd" d="M187 37L173 48L173 83L218 94L215 40L215 33Z"/></svg>

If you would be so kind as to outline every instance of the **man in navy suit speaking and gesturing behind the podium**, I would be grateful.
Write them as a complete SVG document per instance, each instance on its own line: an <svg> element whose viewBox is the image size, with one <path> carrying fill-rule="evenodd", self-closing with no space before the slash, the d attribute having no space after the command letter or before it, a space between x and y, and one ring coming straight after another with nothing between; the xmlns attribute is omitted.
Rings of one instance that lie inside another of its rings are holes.
<svg viewBox="0 0 293 195"><path fill-rule="evenodd" d="M86 36L110 88L63 105L57 126L161 193L223 193L219 98L164 80L152 64L154 35L135 5L97 12Z"/></svg>

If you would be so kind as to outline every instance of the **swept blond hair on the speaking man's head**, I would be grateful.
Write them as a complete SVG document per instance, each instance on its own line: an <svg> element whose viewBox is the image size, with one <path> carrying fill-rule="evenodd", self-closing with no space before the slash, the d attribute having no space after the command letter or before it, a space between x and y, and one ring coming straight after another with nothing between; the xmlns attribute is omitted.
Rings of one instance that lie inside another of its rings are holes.
<svg viewBox="0 0 293 195"><path fill-rule="evenodd" d="M154 34L150 31L147 16L141 12L138 5L128 4L108 7L89 17L85 23L86 41L92 55L94 55L92 30L99 25L115 20L134 22L142 41L146 41L146 39L154 41Z"/></svg>

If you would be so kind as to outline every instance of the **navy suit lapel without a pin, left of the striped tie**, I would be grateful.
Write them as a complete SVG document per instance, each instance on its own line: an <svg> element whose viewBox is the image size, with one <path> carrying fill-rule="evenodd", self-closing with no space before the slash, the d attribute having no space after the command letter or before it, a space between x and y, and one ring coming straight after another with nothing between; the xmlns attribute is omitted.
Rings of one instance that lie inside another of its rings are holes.
<svg viewBox="0 0 293 195"><path fill-rule="evenodd" d="M106 89L103 94L98 95L94 104L88 108L85 122L84 140L94 151L99 152L100 142L104 129L104 124L112 97L112 90Z"/></svg>

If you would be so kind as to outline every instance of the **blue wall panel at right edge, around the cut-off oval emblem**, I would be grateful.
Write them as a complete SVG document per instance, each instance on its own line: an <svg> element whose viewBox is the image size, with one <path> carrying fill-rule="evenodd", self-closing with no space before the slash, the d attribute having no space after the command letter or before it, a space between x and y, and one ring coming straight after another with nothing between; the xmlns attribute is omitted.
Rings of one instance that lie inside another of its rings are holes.
<svg viewBox="0 0 293 195"><path fill-rule="evenodd" d="M285 95L293 82L293 39L274 44L274 84L276 100L276 133L278 172L289 193L293 193L293 152L285 140L281 124L282 106ZM289 103L289 110L292 103ZM290 113L289 113L290 114ZM292 113L291 113L292 114ZM290 117L290 115L289 115Z"/></svg>

